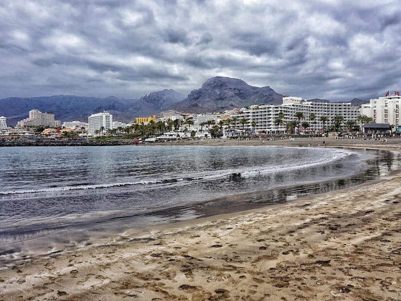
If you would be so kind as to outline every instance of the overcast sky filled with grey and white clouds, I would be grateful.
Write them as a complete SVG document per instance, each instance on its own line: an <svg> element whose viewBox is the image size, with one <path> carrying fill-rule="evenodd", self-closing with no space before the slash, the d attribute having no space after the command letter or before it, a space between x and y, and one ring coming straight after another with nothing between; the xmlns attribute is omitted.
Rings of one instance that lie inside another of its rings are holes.
<svg viewBox="0 0 401 301"><path fill-rule="evenodd" d="M214 76L305 99L401 90L398 0L2 0L0 98L124 98Z"/></svg>

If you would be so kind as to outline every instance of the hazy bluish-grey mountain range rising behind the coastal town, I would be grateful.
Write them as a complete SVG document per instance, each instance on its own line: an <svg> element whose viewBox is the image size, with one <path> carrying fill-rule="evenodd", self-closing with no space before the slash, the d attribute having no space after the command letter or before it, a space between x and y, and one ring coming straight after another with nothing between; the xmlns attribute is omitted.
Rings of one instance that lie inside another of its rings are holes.
<svg viewBox="0 0 401 301"><path fill-rule="evenodd" d="M283 95L269 86L254 87L245 81L229 77L213 77L201 88L192 90L188 96L172 89L149 93L141 98L106 98L83 97L75 95L54 95L46 97L9 97L0 99L0 116L7 117L9 126L29 116L29 111L53 112L56 120L88 121L93 113L107 110L113 120L129 122L135 117L148 117L161 111L175 110L182 113L223 112L253 104L280 104ZM313 99L313 101L325 101ZM353 99L353 105L367 103Z"/></svg>

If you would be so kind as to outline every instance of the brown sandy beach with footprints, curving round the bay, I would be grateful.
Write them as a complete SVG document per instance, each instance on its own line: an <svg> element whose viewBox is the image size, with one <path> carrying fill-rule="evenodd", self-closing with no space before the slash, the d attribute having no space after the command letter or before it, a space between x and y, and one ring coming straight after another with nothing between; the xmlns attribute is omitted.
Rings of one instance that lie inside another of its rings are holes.
<svg viewBox="0 0 401 301"><path fill-rule="evenodd" d="M324 140L324 147L401 149L401 138ZM398 170L350 189L146 228L134 239L116 237L108 245L11 267L0 271L0 301L400 300L400 181Z"/></svg>

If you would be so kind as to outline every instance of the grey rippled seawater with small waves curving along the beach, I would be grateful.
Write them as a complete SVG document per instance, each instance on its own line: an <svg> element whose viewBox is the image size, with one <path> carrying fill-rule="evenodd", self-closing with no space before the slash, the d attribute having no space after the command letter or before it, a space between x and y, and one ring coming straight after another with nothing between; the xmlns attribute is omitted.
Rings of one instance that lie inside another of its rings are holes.
<svg viewBox="0 0 401 301"><path fill-rule="evenodd" d="M325 147L0 149L0 267L162 223L289 202L386 175L398 155Z"/></svg>

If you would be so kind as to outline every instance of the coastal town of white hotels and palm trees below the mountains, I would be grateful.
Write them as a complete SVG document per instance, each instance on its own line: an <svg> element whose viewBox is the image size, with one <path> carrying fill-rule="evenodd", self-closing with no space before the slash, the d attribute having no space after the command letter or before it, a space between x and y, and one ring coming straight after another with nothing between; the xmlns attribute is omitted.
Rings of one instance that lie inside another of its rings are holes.
<svg viewBox="0 0 401 301"><path fill-rule="evenodd" d="M182 113L164 111L131 122L113 120L106 110L80 120L56 120L52 112L32 109L29 117L9 127L0 117L2 141L25 137L48 141L99 141L131 139L132 143L182 141L188 139L277 139L296 136L327 136L383 139L399 136L399 92L370 99L367 104L307 101L283 97L281 104L251 105L224 112Z"/></svg>

